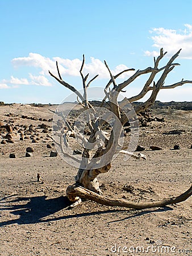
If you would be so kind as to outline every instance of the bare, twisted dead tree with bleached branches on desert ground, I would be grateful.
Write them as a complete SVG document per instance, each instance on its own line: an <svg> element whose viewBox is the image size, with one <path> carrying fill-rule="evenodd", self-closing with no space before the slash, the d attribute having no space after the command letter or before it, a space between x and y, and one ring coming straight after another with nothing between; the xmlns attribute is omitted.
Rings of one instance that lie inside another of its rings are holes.
<svg viewBox="0 0 192 256"><path fill-rule="evenodd" d="M191 186L189 190L187 190L185 193L181 194L178 197L150 203L131 203L129 201L122 199L108 199L108 197L102 196L102 192L99 188L99 183L97 179L97 176L99 174L104 174L105 172L108 172L110 170L112 158L114 154L116 154L116 151L118 151L118 153L120 152L123 154L130 155L136 159L145 159L145 156L143 154L135 155L132 154L132 152L122 150L122 147L120 147L119 142L121 137L120 130L122 130L124 124L128 121L130 122L130 120L132 125L134 126L134 122L136 122L135 119L133 118L134 114L138 114L148 109L149 106L153 105L153 103L156 100L157 94L161 89L171 89L186 83L192 83L192 81L182 79L180 82L177 82L176 84L164 85L165 79L168 76L168 74L174 69L176 65L179 65L178 63L174 63L174 60L178 57L180 51L173 55L164 67L159 68L158 65L160 63L160 60L166 54L166 52L164 53L163 49L161 48L160 55L157 57L157 59L155 59L154 57L154 67L148 67L144 70L137 70L130 78L128 78L126 81L120 84L116 83L116 79L120 75L122 75L122 73L128 71L135 71L135 69L127 69L123 72L120 72L118 75L114 76L112 75L110 68L108 67L105 61L106 68L108 69L108 72L110 74L110 81L108 81L108 84L104 89L105 97L103 98L100 107L102 108L103 104L105 102L108 102L110 113L107 113L106 117L109 120L110 118L112 118L112 115L115 115L116 123L113 126L113 129L110 131L110 134L106 134L103 128L106 125L106 123L110 121L106 121L105 117L101 118L98 113L98 111L101 112L101 110L97 110L93 105L91 105L89 100L87 100L87 88L89 88L91 82L94 79L96 79L98 75L93 77L93 79L91 79L89 82L87 82L89 74L84 76L84 74L82 73L85 64L85 57L83 56L82 65L80 69L83 84L83 93L78 92L78 90L74 88L74 86L62 80L57 63L56 65L59 77L56 77L49 71L50 75L54 77L57 81L59 81L60 84L72 90L72 92L77 95L78 102L86 111L87 126L90 130L89 137L86 138L84 135L78 133L73 129L73 127L66 120L64 113L56 113L62 116L62 118L65 121L65 126L67 127L67 130L65 130L65 132L63 131L59 135L60 141L55 141L55 139L53 138L55 143L59 144L62 154L64 156L68 156L69 158L74 158L74 156L68 155L68 151L64 149L64 147L68 148L68 139L71 135L73 135L73 137L80 141L83 148L82 159L79 160L80 167L78 169L78 173L76 176L76 182L73 185L69 185L69 187L66 189L66 195L68 196L69 200L72 201L72 206L81 203L81 198L84 198L93 200L97 203L104 205L116 205L134 209L144 209L152 207L164 207L165 205L179 203L181 201L186 200L188 197L192 195ZM118 100L120 92L124 92L124 88L126 88L127 85L131 84L131 82L137 79L137 77L147 73L149 73L149 78L139 94L131 98L124 98L122 101ZM157 74L158 79L156 76ZM157 79L156 82L155 78ZM127 102L131 103L133 101L138 101L141 98L143 98L145 94L147 94L147 92L149 91L151 91L151 96L148 98L147 101L137 105L135 109L130 108L130 106L127 106ZM128 109L127 113L126 108ZM97 150L94 151L93 148L87 147L89 143L97 144ZM103 160L103 156L105 156L105 160Z"/></svg>

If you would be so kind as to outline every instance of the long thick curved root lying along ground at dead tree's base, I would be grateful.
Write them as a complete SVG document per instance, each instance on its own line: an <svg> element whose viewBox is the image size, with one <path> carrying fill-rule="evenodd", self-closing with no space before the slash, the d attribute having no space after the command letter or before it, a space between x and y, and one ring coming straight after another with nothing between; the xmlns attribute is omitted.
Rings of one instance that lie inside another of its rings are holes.
<svg viewBox="0 0 192 256"><path fill-rule="evenodd" d="M181 203L182 201L185 201L192 195L192 185L186 192L182 193L180 196L170 197L162 201L148 203L132 203L130 201L123 199L110 199L108 197L98 195L97 193L90 191L89 189L83 188L78 184L70 185L66 189L66 195L68 196L69 200L72 198L76 198L76 200L84 198L107 206L119 206L132 209L147 209L155 207L165 207L166 205L177 204Z"/></svg>

